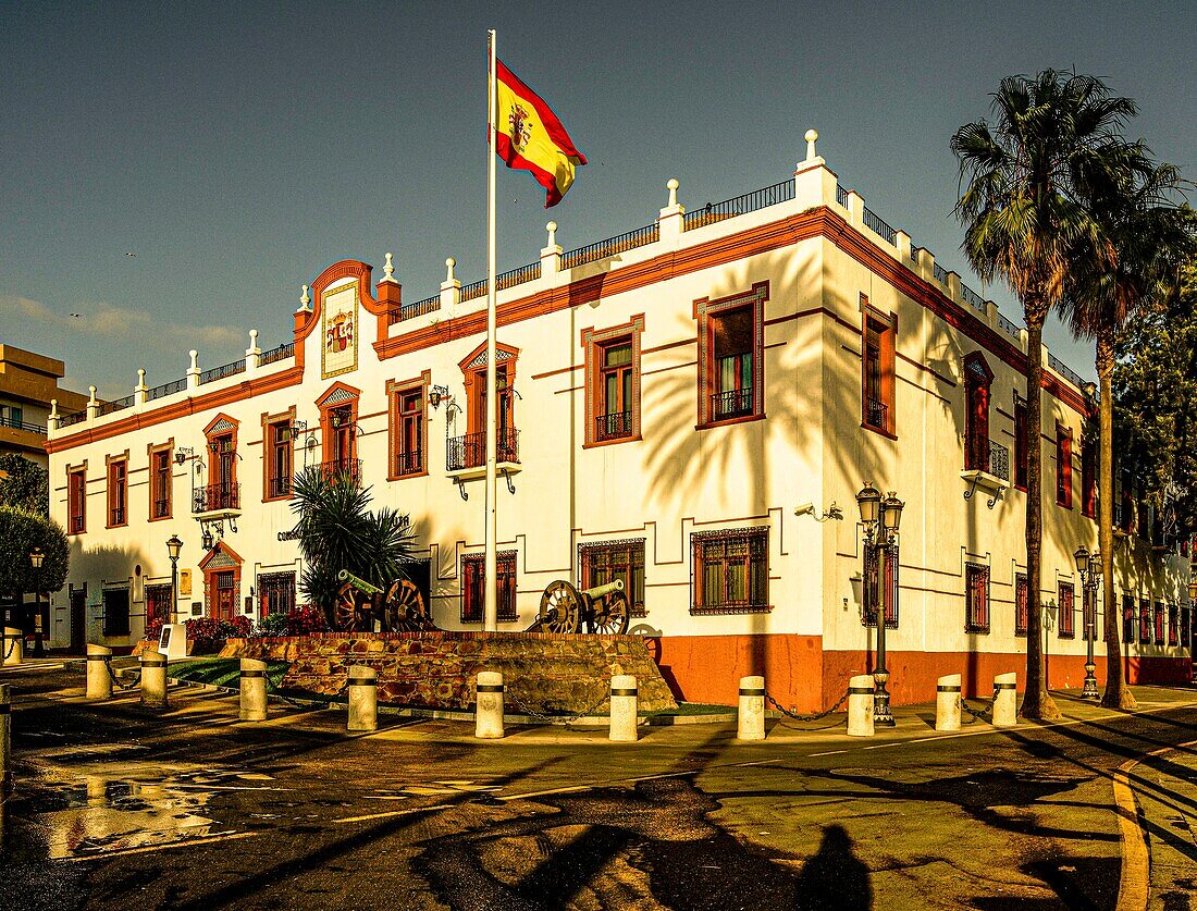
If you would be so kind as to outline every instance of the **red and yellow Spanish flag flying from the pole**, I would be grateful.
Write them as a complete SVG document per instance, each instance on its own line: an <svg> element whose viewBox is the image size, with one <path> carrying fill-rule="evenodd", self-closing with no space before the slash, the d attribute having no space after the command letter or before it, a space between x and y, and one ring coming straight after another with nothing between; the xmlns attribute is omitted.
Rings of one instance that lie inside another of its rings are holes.
<svg viewBox="0 0 1197 911"><path fill-rule="evenodd" d="M536 92L503 63L496 66L494 152L508 168L531 171L545 188L545 208L555 206L587 163L561 121Z"/></svg>

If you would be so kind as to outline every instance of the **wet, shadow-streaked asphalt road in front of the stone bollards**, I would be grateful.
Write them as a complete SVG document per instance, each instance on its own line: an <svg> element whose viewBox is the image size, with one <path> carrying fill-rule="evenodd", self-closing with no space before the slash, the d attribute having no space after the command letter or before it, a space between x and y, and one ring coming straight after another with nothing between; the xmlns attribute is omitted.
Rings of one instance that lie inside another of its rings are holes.
<svg viewBox="0 0 1197 911"><path fill-rule="evenodd" d="M923 709L871 740L785 722L762 743L685 725L613 745L412 719L350 736L336 711L242 724L198 690L156 713L86 704L66 672L0 682L6 909L1111 909L1131 760L1152 906L1189 907L1197 882L1197 755L1148 755L1197 740L1195 691L1138 688L1136 715L1062 697L1065 723L1005 731L935 734Z"/></svg>

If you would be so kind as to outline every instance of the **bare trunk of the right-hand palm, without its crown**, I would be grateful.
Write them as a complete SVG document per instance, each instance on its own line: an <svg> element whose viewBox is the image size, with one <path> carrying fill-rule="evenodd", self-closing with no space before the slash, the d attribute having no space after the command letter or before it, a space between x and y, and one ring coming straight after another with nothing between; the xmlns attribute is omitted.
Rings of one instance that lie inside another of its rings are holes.
<svg viewBox="0 0 1197 911"><path fill-rule="evenodd" d="M1098 548L1101 551L1101 593L1105 602L1106 692L1101 704L1110 709L1137 709L1135 696L1123 676L1122 643L1118 633L1118 596L1114 593L1114 372L1113 330L1098 333L1098 383L1100 387L1101 455L1098 466Z"/></svg>

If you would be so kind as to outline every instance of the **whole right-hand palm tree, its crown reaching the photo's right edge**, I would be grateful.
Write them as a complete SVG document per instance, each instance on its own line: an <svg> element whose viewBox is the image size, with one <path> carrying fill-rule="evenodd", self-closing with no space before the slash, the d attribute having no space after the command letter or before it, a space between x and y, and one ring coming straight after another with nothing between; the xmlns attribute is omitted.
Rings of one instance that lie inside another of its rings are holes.
<svg viewBox="0 0 1197 911"><path fill-rule="evenodd" d="M1110 178L1113 177L1113 182ZM1126 148L1119 171L1094 175L1089 194L1114 262L1098 267L1080 257L1062 302L1076 338L1096 342L1099 402L1098 548L1101 552L1106 643L1106 691L1101 704L1135 709L1125 686L1113 566L1114 339L1129 321L1159 305L1178 287L1180 269L1195 253L1192 211L1175 205L1185 182L1175 168L1156 165L1141 144ZM1088 268L1086 268L1088 267Z"/></svg>

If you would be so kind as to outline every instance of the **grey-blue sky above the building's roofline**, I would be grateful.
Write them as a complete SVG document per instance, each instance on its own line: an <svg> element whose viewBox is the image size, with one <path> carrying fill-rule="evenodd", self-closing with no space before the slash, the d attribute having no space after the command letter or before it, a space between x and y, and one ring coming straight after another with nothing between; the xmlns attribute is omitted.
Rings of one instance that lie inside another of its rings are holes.
<svg viewBox="0 0 1197 911"><path fill-rule="evenodd" d="M485 273L486 29L590 160L546 213L499 175L499 269L784 180L802 134L840 182L966 274L948 140L1002 77L1075 67L1197 178L1192 36L1173 4L19 4L0 0L0 341L126 395L290 339L299 286L395 253ZM127 254L133 253L134 256ZM1003 312L1019 308L1001 289ZM78 314L78 316L73 316ZM1092 353L1058 327L1084 376Z"/></svg>

